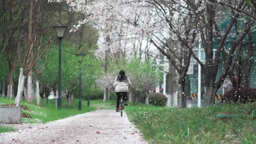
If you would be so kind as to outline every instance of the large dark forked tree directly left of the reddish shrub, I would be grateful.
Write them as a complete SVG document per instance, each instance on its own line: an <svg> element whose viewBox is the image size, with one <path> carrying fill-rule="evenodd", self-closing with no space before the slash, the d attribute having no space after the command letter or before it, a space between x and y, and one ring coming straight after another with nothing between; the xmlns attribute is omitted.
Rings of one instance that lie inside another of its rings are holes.
<svg viewBox="0 0 256 144"><path fill-rule="evenodd" d="M244 1L239 1L235 3L238 9L241 9L242 7L246 7L247 4L244 3ZM221 12L221 8L219 4L213 4L208 1L202 1L200 3L199 1L192 1L188 0L188 5L191 9L193 9L193 14L195 15L195 19L198 20L198 27L199 27L199 33L202 40L202 45L205 52L205 64L203 64L196 55L193 55L194 58L198 61L198 63L202 67L202 71L204 73L205 77L205 106L208 106L210 104L214 104L215 95L217 90L222 85L224 79L228 75L228 71L232 70L231 64L233 62L233 57L235 54L235 51L237 51L238 46L241 42L243 42L244 37L250 30L250 28L253 25L253 19L248 18L244 22L244 28L240 31L239 37L237 37L232 45L228 48L228 51L226 55L223 55L225 58L225 64L222 74L220 75L219 79L216 79L217 72L218 72L218 65L220 62L220 53L222 50L225 50L225 42L228 36L230 36L230 31L232 27L234 26L234 23L237 21L237 18L242 15L241 12L236 12L235 16L231 19L231 21L228 24L228 27L223 30L221 33L218 33L219 35L219 45L217 46L217 50L215 52L215 55L213 53L213 36L214 36L214 28L217 30L218 21L216 20L216 13ZM226 13L228 14L228 13ZM188 46L188 48L192 51L193 49Z"/></svg>

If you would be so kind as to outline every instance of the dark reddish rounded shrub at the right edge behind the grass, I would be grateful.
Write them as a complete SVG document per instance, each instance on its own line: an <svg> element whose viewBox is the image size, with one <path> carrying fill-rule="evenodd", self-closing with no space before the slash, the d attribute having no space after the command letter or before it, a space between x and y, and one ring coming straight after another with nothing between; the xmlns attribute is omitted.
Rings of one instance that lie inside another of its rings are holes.
<svg viewBox="0 0 256 144"><path fill-rule="evenodd" d="M234 88L226 92L222 96L222 102L237 102L237 103L246 103L246 102L255 102L256 101L256 89L242 87Z"/></svg>

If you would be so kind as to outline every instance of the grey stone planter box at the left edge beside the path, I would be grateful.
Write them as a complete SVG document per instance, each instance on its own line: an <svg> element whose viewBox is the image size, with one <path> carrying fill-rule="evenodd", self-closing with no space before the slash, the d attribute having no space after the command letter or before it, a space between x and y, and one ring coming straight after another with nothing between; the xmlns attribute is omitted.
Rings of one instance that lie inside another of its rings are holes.
<svg viewBox="0 0 256 144"><path fill-rule="evenodd" d="M0 123L21 123L22 108L0 106Z"/></svg>

